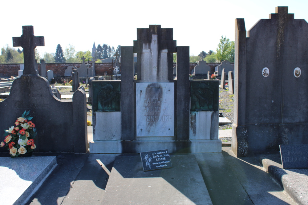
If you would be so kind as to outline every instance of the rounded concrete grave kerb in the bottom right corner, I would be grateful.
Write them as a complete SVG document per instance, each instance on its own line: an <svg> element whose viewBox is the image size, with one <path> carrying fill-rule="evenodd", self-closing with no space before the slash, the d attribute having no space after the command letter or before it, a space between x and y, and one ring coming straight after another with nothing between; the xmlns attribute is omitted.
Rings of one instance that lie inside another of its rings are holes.
<svg viewBox="0 0 308 205"><path fill-rule="evenodd" d="M283 169L282 164L277 162L278 157L274 157L276 162L262 159L263 167L295 202L308 204L308 169Z"/></svg>

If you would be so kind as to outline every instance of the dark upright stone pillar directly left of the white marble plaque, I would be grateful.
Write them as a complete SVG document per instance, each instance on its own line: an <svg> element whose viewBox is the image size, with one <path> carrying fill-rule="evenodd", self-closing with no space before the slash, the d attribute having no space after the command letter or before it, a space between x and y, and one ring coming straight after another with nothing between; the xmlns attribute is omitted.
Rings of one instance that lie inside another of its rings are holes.
<svg viewBox="0 0 308 205"><path fill-rule="evenodd" d="M134 53L133 46L121 46L121 121L122 140L134 140Z"/></svg>

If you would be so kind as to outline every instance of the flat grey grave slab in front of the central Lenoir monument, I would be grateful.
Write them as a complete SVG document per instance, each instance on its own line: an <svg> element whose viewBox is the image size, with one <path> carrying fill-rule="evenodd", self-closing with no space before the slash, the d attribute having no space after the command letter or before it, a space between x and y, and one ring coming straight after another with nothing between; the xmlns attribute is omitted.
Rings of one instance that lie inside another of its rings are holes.
<svg viewBox="0 0 308 205"><path fill-rule="evenodd" d="M116 156L101 204L212 204L194 155L143 171L140 156Z"/></svg>

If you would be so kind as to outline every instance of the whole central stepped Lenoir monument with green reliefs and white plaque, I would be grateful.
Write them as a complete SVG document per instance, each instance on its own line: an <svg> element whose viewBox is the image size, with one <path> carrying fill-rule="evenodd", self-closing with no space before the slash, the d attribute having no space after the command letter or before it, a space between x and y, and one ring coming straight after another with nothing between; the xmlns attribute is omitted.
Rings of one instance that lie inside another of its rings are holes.
<svg viewBox="0 0 308 205"><path fill-rule="evenodd" d="M173 53L177 53L177 80L173 80ZM172 28L137 29L134 46L121 46L121 74L121 81L92 81L91 153L221 152L218 81L194 81L191 87L189 46L176 46ZM202 109L191 109L195 102Z"/></svg>

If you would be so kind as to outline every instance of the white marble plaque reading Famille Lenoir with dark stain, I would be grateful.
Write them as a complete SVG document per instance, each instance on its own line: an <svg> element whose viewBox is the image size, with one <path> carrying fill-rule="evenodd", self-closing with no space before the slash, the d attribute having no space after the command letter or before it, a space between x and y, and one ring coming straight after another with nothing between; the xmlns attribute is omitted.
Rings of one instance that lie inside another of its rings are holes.
<svg viewBox="0 0 308 205"><path fill-rule="evenodd" d="M174 136L174 83L136 83L137 137Z"/></svg>

